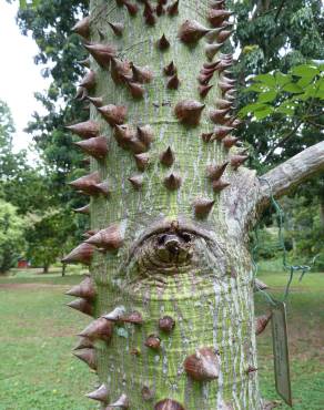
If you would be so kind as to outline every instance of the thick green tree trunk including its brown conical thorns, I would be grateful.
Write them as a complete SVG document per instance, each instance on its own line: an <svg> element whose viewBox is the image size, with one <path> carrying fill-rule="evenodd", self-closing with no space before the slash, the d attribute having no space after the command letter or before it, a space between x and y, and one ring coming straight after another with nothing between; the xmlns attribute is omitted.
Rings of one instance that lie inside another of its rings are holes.
<svg viewBox="0 0 324 410"><path fill-rule="evenodd" d="M92 232L64 262L91 263L69 294L97 319L75 355L98 370L104 386L89 397L107 409L262 409L247 232L269 193L226 135L237 121L214 111L233 95L231 57L211 47L226 29L210 31L209 1L164 3L90 2L92 96L104 106L70 129L94 156L72 183L91 195ZM89 139L98 126L107 155Z"/></svg>

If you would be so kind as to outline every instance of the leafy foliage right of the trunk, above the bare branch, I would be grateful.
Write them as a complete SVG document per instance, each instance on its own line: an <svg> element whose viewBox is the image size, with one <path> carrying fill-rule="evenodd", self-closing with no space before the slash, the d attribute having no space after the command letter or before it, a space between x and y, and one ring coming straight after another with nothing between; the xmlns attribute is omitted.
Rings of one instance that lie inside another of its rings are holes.
<svg viewBox="0 0 324 410"><path fill-rule="evenodd" d="M293 106L284 103L285 95L296 100L298 94L292 92L296 90L295 85L287 85L288 89L283 92L280 90L290 75L293 76L292 84L301 80L297 85L306 86L303 82L308 78L308 70L305 75L303 69L294 73L293 68L324 58L322 2L244 1L232 7L237 23L233 45L241 50L234 68L239 79L237 109L242 114L249 110L254 114L253 120L250 116L240 130L240 136L251 148L252 165L263 173L321 139L318 126L303 123L301 127L300 117L291 115ZM323 71L323 68L317 69ZM254 92L245 92L252 78L256 79L250 88ZM272 102L280 99L283 105L276 111ZM308 103L310 99L300 99L294 113L298 110L305 112ZM288 119L286 112L290 112Z"/></svg>

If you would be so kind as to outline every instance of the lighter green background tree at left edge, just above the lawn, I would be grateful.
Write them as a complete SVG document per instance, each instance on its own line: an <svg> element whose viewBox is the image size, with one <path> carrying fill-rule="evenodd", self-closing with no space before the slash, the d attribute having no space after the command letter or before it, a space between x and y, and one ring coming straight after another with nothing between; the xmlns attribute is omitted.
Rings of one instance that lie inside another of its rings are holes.
<svg viewBox="0 0 324 410"><path fill-rule="evenodd" d="M14 209L14 215L17 213L26 221L19 237L10 237L11 230L8 233L9 238L6 245L3 243L7 258L4 262L2 257L2 270L12 267L19 252L26 250L23 256L30 257L33 266L43 266L47 271L50 264L60 259L67 248L75 244L80 230L85 229L85 218L75 216L71 207L61 207L61 196L55 192L57 173L44 164L31 166L26 151L13 152L14 126L4 102L0 102L0 197L3 204L7 202L8 206L12 205L10 209ZM17 221L20 221L19 216ZM21 246L24 243L22 237L27 247Z"/></svg>

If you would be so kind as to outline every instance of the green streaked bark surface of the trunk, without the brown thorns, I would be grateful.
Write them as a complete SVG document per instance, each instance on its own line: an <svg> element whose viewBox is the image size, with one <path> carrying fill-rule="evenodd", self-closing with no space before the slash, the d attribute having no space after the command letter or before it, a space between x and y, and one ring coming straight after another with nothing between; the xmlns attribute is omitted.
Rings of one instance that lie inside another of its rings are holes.
<svg viewBox="0 0 324 410"><path fill-rule="evenodd" d="M206 176L207 165L231 161L240 150L227 150L217 141L203 142L201 135L212 133L215 126L209 113L221 98L219 73L214 73L210 82L213 88L202 99L198 76L203 63L210 62L204 51L206 41L188 45L178 37L185 20L210 27L209 1L182 0L176 16L165 13L153 27L144 23L143 4L138 6L139 12L132 17L114 1L90 3L91 41L113 43L121 60L149 66L154 75L143 85L143 99L133 99L124 83L117 84L110 71L91 59L97 78L93 95L102 95L104 104L125 105L125 123L134 131L150 125L154 135L150 165L139 172L133 152L118 145L112 127L91 107L91 119L109 141L107 160L92 158L91 171L99 171L110 191L108 197L91 198L91 228L119 224L124 235L118 252L94 253L94 317L122 306L128 314L140 311L143 318L142 325L115 322L109 342L93 338L98 376L107 385L109 402L124 393L131 409L153 409L168 398L186 410L261 409L256 371L249 371L257 367L253 275L246 243L246 225L257 195L255 176L246 168L236 171L229 165L223 181L231 185L214 192ZM123 34L114 35L108 21L123 22ZM163 33L170 42L165 51L156 47ZM171 61L178 69L178 90L166 88L169 79L163 74ZM176 103L188 99L205 104L194 126L182 124L174 115ZM165 166L160 156L169 146L174 163ZM163 182L171 172L181 177L181 186L174 191ZM134 189L128 178L139 174L143 185ZM194 214L196 198L215 201L204 218ZM161 235L175 237L175 255L161 244ZM171 332L159 329L164 316L175 320ZM161 339L159 349L145 346L150 335ZM210 381L193 380L184 371L186 357L201 348L212 349L219 362L219 375Z"/></svg>

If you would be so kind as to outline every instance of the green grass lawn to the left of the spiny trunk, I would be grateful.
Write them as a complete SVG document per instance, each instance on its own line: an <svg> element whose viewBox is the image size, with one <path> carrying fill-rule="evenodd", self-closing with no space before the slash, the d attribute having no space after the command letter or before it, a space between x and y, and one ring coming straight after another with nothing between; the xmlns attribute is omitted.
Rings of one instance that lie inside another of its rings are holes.
<svg viewBox="0 0 324 410"><path fill-rule="evenodd" d="M97 377L71 355L89 318L63 306L71 300L63 293L80 276L17 279L0 280L0 409L95 408L84 393Z"/></svg>

